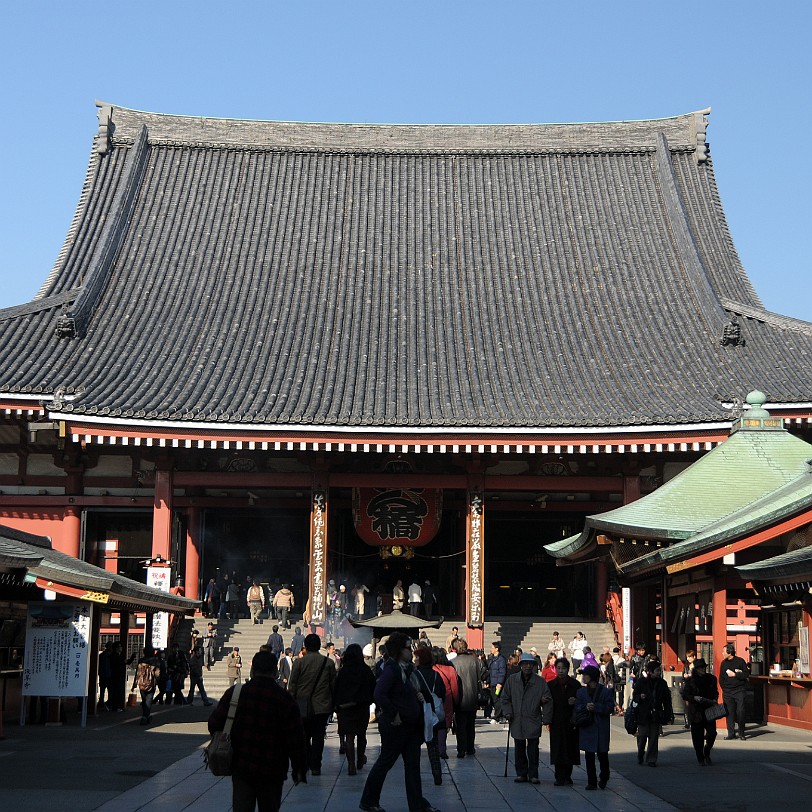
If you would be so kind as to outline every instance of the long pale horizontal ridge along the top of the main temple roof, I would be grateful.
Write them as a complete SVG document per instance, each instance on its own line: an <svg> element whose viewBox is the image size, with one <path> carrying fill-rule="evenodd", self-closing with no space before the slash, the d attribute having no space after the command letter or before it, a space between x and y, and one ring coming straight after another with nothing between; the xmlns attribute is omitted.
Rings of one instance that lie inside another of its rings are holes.
<svg viewBox="0 0 812 812"><path fill-rule="evenodd" d="M706 157L710 108L659 119L552 124L359 124L273 121L152 113L96 102L114 141L134 138L141 126L151 141L355 150L653 150L664 132L669 142Z"/></svg>

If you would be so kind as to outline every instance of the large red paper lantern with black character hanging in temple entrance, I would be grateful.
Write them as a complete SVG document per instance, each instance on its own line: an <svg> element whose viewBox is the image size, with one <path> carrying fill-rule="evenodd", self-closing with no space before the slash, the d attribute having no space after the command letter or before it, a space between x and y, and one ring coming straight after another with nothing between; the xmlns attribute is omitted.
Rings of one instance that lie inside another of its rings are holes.
<svg viewBox="0 0 812 812"><path fill-rule="evenodd" d="M354 488L355 530L376 547L428 544L440 529L443 492L437 488Z"/></svg>

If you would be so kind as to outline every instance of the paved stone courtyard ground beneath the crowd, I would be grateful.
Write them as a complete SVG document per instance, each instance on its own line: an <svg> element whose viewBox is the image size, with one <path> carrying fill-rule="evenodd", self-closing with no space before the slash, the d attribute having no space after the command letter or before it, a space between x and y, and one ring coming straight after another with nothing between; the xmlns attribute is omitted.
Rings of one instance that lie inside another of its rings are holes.
<svg viewBox="0 0 812 812"><path fill-rule="evenodd" d="M42 812L48 807L66 812L100 809L105 812L160 810L171 812L229 812L231 784L203 769L200 747L207 740L208 709L161 708L148 728L138 725L137 709L104 714L78 727L76 717L64 727L7 727L0 741L0 808ZM435 787L423 759L423 794L435 806L450 810L592 808L764 810L780 804L807 808L812 791L812 734L777 726L753 728L746 742L717 740L714 766L696 765L690 735L681 727L667 728L656 769L640 767L635 742L613 721L610 765L605 791L587 792L583 769L576 769L575 786L552 786L546 762L547 739L542 738L542 783L513 782L505 772L507 732L501 725L479 722L477 754L444 764L443 785ZM377 734L370 730L370 764L377 753ZM512 749L511 749L512 762ZM335 725L328 727L322 775L293 787L287 782L283 809L349 812L358 808L367 770L346 774L338 754ZM381 804L388 812L406 810L403 770L396 766L384 787Z"/></svg>

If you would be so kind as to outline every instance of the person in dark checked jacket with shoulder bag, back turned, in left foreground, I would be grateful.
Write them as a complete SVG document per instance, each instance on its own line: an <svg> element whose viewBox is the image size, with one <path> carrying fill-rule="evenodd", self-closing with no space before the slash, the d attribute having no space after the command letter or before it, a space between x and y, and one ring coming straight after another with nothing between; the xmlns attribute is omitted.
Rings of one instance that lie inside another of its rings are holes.
<svg viewBox="0 0 812 812"><path fill-rule="evenodd" d="M234 687L224 694L209 717L209 732L225 728ZM234 750L232 807L234 812L277 812L290 764L293 783L307 781L307 758L299 708L276 684L276 657L270 651L254 655L251 679L240 689L231 728Z"/></svg>

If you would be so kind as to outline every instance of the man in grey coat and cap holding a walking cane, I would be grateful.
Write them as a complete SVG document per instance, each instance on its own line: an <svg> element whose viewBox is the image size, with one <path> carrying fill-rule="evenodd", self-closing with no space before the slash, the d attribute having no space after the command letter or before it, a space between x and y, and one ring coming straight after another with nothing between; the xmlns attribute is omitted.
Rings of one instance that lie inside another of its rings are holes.
<svg viewBox="0 0 812 812"><path fill-rule="evenodd" d="M515 740L515 782L539 784L539 739L542 725L552 721L553 698L547 682L536 671L532 654L522 654L519 668L502 689L502 715L510 722L509 733Z"/></svg>

